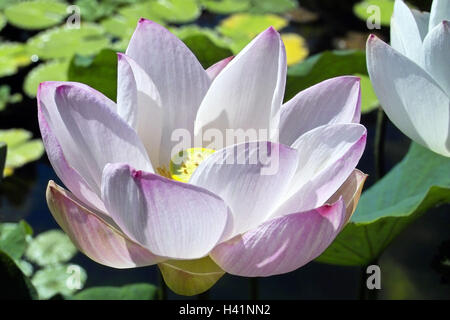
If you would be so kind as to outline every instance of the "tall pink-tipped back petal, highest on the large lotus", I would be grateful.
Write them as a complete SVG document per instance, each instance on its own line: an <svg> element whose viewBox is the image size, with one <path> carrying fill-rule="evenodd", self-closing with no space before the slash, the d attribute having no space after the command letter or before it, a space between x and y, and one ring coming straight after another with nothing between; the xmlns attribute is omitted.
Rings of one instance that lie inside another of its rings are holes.
<svg viewBox="0 0 450 320"><path fill-rule="evenodd" d="M161 96L162 141L160 162L169 163L177 144L172 133L192 133L197 110L211 80L194 54L166 28L141 19L126 54L150 76Z"/></svg>

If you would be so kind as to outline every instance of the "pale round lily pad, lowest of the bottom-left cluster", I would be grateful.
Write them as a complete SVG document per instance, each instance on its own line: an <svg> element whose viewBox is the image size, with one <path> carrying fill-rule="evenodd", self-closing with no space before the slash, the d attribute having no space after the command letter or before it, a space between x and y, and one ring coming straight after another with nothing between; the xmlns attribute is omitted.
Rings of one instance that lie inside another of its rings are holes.
<svg viewBox="0 0 450 320"><path fill-rule="evenodd" d="M49 299L56 294L72 296L81 290L86 282L86 271L74 264L52 265L36 271L31 282L39 299Z"/></svg>

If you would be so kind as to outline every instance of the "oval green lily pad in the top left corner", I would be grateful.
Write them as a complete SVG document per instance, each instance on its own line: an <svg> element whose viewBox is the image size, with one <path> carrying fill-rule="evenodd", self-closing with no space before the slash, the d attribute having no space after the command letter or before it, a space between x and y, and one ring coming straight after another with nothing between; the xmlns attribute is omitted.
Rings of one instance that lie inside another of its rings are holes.
<svg viewBox="0 0 450 320"><path fill-rule="evenodd" d="M23 1L8 6L8 22L22 29L45 29L60 24L67 16L67 3L52 0Z"/></svg>

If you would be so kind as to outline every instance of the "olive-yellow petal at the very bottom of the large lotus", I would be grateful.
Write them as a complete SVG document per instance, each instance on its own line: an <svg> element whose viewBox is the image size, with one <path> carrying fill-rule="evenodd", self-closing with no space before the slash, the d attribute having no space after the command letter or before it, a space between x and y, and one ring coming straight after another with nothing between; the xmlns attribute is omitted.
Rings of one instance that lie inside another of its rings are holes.
<svg viewBox="0 0 450 320"><path fill-rule="evenodd" d="M225 274L210 257L170 260L159 263L158 267L167 286L184 296L205 292Z"/></svg>

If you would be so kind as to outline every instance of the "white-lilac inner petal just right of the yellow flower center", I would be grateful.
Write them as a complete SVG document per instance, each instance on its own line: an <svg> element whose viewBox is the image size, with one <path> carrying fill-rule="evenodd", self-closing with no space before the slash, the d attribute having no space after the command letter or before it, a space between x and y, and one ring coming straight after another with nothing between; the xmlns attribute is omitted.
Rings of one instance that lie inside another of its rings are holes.
<svg viewBox="0 0 450 320"><path fill-rule="evenodd" d="M194 171L189 183L219 195L233 213L230 237L264 222L287 191L297 151L271 142L248 142L219 150Z"/></svg>

